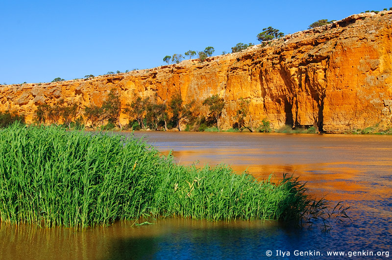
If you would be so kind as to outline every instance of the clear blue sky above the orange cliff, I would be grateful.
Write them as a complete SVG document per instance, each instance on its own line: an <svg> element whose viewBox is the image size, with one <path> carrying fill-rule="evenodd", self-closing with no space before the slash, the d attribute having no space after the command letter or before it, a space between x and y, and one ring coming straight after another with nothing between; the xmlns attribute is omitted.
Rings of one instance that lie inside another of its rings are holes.
<svg viewBox="0 0 392 260"><path fill-rule="evenodd" d="M1 0L0 84L151 68L207 46L220 55L259 43L268 26L290 34L319 19L390 7L390 0Z"/></svg>

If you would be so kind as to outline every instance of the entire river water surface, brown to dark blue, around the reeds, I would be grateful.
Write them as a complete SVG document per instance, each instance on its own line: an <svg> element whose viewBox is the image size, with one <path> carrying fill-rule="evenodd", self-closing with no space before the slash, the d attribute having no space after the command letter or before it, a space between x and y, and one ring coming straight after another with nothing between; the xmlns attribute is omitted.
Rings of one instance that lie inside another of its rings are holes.
<svg viewBox="0 0 392 260"><path fill-rule="evenodd" d="M184 165L226 163L260 178L270 173L276 178L283 173L300 176L311 194L350 206L352 221L332 223L327 233L321 227L285 227L270 221L156 219L149 220L152 225L119 222L84 231L0 224L0 259L392 257L392 136L225 132L135 132L135 136L145 136L163 153L172 150L175 161ZM343 256L328 256L332 251L342 251Z"/></svg>

